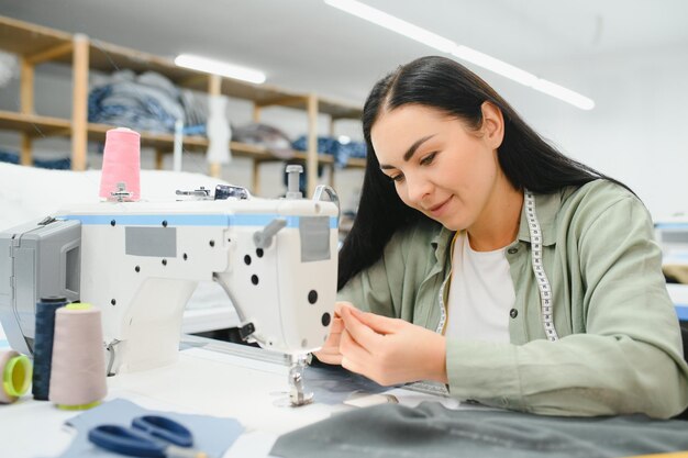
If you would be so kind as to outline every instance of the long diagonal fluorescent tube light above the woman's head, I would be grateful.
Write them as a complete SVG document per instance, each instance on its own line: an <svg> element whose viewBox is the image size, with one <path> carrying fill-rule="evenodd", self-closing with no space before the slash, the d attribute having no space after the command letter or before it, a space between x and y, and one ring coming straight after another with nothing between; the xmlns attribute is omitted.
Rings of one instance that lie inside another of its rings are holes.
<svg viewBox="0 0 688 458"><path fill-rule="evenodd" d="M425 29L413 25L407 21L388 14L384 11L368 7L356 0L324 0L331 7L337 8L344 12L373 22L376 25L397 32L419 43L433 47L442 53L451 54L462 60L482 67L493 71L513 81L520 82L547 96L555 97L581 110L591 110L595 102L579 94L576 91L555 85L554 82L537 78L535 75L525 71L503 60L499 60L479 51L469 48L468 46L457 45L456 43L432 33Z"/></svg>

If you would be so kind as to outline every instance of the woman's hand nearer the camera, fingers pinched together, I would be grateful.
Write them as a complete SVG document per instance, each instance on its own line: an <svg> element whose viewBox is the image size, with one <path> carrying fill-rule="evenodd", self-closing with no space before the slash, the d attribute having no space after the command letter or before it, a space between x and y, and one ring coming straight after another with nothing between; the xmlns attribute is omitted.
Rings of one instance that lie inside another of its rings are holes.
<svg viewBox="0 0 688 458"><path fill-rule="evenodd" d="M447 382L444 336L403 320L343 306L342 366L384 384Z"/></svg>

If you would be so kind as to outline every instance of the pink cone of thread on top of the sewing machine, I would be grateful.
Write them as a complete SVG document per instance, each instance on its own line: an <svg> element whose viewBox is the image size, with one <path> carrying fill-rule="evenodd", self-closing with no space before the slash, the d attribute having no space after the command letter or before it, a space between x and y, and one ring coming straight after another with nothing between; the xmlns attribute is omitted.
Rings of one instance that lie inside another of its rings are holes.
<svg viewBox="0 0 688 458"><path fill-rule="evenodd" d="M100 176L101 198L114 200L112 192L119 191L118 183L123 182L131 197L141 198L141 135L126 127L111 129L106 133L106 149L102 157Z"/></svg>

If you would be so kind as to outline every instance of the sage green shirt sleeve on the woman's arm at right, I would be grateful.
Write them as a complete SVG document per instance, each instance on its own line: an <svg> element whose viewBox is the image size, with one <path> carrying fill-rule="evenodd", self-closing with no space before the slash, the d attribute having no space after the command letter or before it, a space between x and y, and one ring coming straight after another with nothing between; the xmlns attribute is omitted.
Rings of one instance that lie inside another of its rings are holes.
<svg viewBox="0 0 688 458"><path fill-rule="evenodd" d="M452 395L550 415L680 413L688 367L647 211L629 196L572 224L585 284L572 308L582 308L586 332L524 345L450 340Z"/></svg>

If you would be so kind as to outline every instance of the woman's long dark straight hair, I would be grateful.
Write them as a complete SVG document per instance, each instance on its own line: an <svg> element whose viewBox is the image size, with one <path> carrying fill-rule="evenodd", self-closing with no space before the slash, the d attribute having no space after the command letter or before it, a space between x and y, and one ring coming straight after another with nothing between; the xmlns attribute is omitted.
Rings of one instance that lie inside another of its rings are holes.
<svg viewBox="0 0 688 458"><path fill-rule="evenodd" d="M501 96L463 65L445 57L419 58L380 79L364 105L366 170L358 213L340 250L339 289L380 258L396 231L420 220L430 220L407 206L393 182L380 170L370 142L370 130L380 112L413 103L435 108L477 130L482 125L481 105L486 101L502 112L504 136L498 148L498 160L515 189L553 193L563 187L581 186L598 178L617 182L548 145Z"/></svg>

